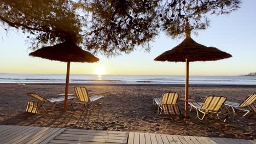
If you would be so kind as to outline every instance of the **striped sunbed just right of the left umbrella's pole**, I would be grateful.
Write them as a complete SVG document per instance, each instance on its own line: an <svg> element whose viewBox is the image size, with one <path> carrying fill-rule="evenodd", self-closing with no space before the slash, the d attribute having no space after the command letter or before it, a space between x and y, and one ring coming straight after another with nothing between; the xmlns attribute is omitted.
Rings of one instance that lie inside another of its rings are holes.
<svg viewBox="0 0 256 144"><path fill-rule="evenodd" d="M74 90L76 96L72 104L74 109L77 109L77 107L74 106L75 104L83 104L86 110L91 110L94 101L98 101L98 104L101 104L99 100L102 99L103 102L103 95L94 95L89 97L88 91L85 87L75 87ZM87 107L89 104L91 104L90 109Z"/></svg>

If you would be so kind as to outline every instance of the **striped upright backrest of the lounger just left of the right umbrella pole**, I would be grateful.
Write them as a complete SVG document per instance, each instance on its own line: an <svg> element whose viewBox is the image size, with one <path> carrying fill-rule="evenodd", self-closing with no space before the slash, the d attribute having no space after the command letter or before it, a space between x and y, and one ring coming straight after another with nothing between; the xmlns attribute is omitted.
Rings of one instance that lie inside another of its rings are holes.
<svg viewBox="0 0 256 144"><path fill-rule="evenodd" d="M175 105L178 97L179 97L178 93L171 93L171 92L164 93L164 94L162 94L161 104L162 105Z"/></svg>

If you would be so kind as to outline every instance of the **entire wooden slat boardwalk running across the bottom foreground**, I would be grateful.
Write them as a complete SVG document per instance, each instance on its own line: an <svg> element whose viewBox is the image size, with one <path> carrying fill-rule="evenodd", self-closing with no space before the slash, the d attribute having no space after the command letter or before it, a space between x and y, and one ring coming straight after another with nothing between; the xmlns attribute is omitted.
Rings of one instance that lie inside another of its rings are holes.
<svg viewBox="0 0 256 144"><path fill-rule="evenodd" d="M254 140L0 125L0 143L256 144Z"/></svg>

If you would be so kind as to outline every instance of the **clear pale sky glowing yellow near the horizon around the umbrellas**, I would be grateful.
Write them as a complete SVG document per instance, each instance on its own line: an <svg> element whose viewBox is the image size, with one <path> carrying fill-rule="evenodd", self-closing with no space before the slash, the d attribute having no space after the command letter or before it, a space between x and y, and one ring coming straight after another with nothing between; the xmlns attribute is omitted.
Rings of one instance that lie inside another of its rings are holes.
<svg viewBox="0 0 256 144"><path fill-rule="evenodd" d="M211 62L190 63L190 75L243 75L256 72L256 1L247 0L229 15L211 16L211 26L191 37L200 44L217 47L231 58ZM183 39L173 40L160 34L152 41L152 50L136 50L130 54L100 58L97 63L71 63L71 74L118 75L184 75L185 63L155 62L162 52L172 49ZM66 63L28 56L26 37L16 31L6 34L0 27L0 73L65 74Z"/></svg>

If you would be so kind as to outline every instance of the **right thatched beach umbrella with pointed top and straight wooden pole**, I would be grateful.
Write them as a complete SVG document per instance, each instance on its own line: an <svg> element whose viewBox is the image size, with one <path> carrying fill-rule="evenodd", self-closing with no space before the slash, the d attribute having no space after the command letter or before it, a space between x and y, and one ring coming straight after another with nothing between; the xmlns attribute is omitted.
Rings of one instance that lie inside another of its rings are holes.
<svg viewBox="0 0 256 144"><path fill-rule="evenodd" d="M189 87L189 62L195 61L217 61L219 59L232 57L229 53L218 50L215 47L206 47L196 43L190 37L187 28L186 38L181 44L173 49L162 53L156 57L155 61L167 62L186 62L185 77L185 118L188 118L188 87Z"/></svg>

